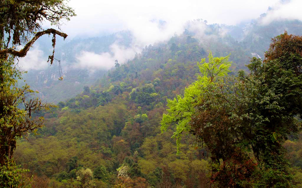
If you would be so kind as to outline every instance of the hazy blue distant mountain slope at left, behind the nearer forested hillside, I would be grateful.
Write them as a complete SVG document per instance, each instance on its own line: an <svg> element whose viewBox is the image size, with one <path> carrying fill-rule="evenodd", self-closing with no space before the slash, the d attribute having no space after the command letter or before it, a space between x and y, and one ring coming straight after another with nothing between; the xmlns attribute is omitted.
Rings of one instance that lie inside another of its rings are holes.
<svg viewBox="0 0 302 188"><path fill-rule="evenodd" d="M60 40L59 40L60 41ZM46 55L51 54L51 39L43 38L37 46L43 50L45 57L41 63L47 64ZM75 38L67 43L59 42L56 48L55 58L61 61L62 72L59 71L59 62L54 61L53 65L43 70L31 69L24 74L24 79L33 90L39 91L40 97L47 102L57 103L79 94L85 85L92 85L95 80L102 77L108 69L88 70L82 67L76 67L77 57L82 51L93 53L108 53L109 47L117 43L122 46L129 46L131 36L129 32L119 32L108 36L94 38ZM50 48L49 48L50 47ZM44 62L45 61L45 62ZM89 62L87 62L88 64ZM114 61L107 62L114 66ZM63 81L59 77L63 76Z"/></svg>

